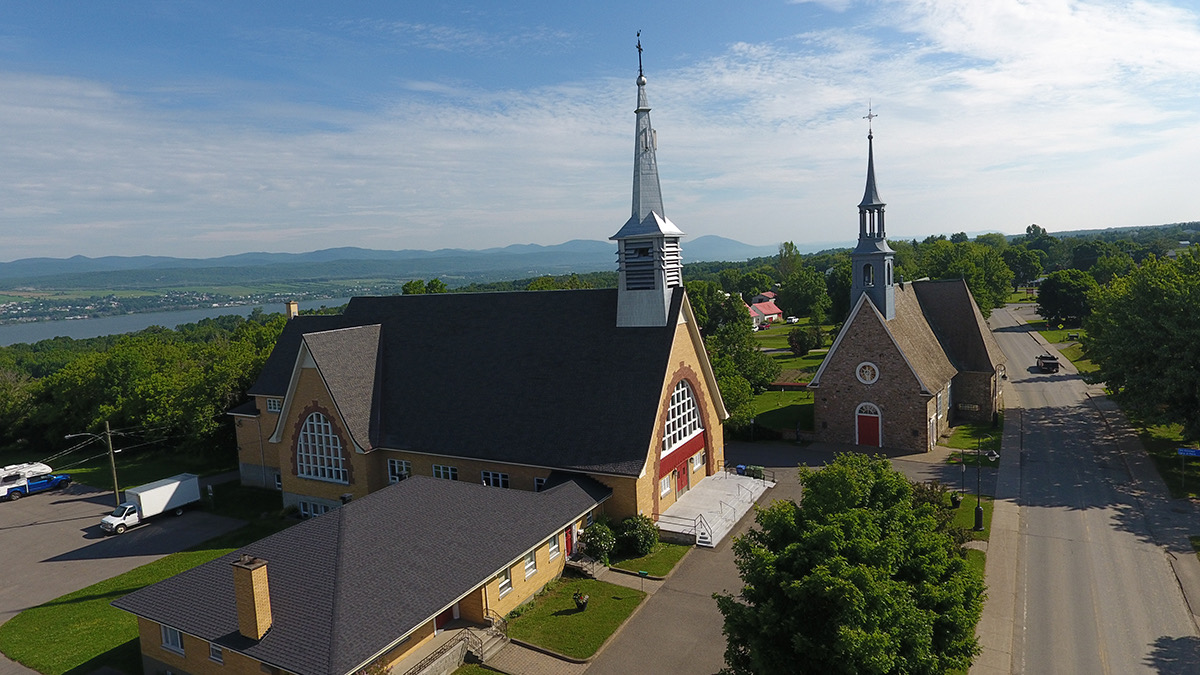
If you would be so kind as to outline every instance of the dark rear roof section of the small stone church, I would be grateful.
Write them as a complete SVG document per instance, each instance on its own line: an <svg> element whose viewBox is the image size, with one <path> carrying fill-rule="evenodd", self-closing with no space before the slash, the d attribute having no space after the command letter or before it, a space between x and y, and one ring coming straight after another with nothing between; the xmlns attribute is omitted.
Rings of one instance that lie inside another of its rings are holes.
<svg viewBox="0 0 1200 675"><path fill-rule="evenodd" d="M920 281L912 287L930 327L959 370L994 372L1004 363L1004 352L988 328L966 281Z"/></svg>

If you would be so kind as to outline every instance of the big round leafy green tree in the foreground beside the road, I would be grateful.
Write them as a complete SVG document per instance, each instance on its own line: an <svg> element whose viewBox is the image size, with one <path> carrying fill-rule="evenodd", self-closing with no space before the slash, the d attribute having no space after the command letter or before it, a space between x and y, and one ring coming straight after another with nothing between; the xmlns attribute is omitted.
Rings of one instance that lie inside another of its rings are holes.
<svg viewBox="0 0 1200 675"><path fill-rule="evenodd" d="M725 673L935 674L966 670L983 580L883 459L800 468L804 498L776 501L734 544L743 589L718 595Z"/></svg>

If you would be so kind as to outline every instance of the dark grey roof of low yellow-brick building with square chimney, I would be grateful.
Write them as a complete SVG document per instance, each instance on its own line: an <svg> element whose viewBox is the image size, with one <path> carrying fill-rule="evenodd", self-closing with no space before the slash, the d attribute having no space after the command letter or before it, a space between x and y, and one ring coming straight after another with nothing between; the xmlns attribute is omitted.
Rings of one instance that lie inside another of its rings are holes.
<svg viewBox="0 0 1200 675"><path fill-rule="evenodd" d="M343 675L611 495L598 485L529 492L418 476L113 605L298 675ZM266 561L274 622L257 641L238 632L241 554Z"/></svg>

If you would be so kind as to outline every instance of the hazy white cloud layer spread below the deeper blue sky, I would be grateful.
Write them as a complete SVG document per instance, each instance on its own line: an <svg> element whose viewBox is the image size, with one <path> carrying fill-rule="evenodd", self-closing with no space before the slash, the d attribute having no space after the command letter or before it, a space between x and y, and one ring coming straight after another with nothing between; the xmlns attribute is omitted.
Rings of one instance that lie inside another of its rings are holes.
<svg viewBox="0 0 1200 675"><path fill-rule="evenodd" d="M912 0L846 17L647 72L666 208L690 235L852 238L868 98L893 235L1198 217L1183 199L1200 156L1195 12ZM522 91L408 80L372 112L246 98L217 113L0 74L0 257L604 239L629 209L636 91L620 74Z"/></svg>

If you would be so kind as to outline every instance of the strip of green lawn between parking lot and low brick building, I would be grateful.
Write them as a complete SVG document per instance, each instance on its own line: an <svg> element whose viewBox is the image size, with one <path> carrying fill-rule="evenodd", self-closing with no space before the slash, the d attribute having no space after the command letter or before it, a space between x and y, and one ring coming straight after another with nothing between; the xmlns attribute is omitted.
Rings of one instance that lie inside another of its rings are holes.
<svg viewBox="0 0 1200 675"><path fill-rule="evenodd" d="M281 516L280 495L274 490L218 485L214 501L215 513L257 520L191 550L26 609L0 626L0 651L46 675L86 675L104 665L140 673L137 620L108 603L295 524Z"/></svg>

